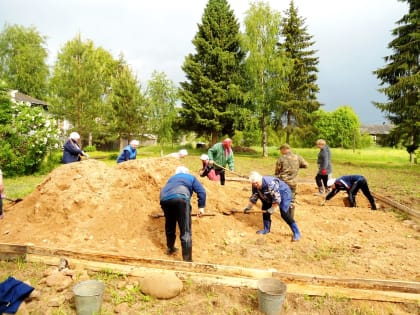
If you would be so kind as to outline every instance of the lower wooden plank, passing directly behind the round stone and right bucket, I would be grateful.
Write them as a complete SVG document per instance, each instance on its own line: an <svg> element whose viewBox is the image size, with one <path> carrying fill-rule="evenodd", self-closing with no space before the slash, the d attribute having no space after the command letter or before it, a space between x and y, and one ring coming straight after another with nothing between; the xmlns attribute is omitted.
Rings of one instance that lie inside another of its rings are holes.
<svg viewBox="0 0 420 315"><path fill-rule="evenodd" d="M51 265L58 265L59 259L51 256L41 256L28 254L28 260L31 262L43 262ZM101 271L111 269L115 272L122 273L124 275L134 276L143 278L150 275L152 272L165 273L175 272L175 274L181 280L192 280L198 284L205 285L220 285L230 287L248 287L257 289L258 279L247 278L247 277L230 277L225 275L215 275L206 273L197 273L190 271L173 271L159 268L149 268L141 266L128 266L116 263L104 263L104 262L93 262L82 259L71 259L70 265L74 265L77 268L84 268L92 271ZM270 277L269 274L264 278ZM419 303L420 294L406 293L406 292L395 292L395 291L381 291L381 290L365 290L365 289L353 289L353 288L342 288L342 287L330 287L321 285L307 285L307 284L295 284L287 283L287 293L303 294L310 296L330 296L330 297L346 297L355 300L368 300L368 301L381 301L381 302L398 302L398 303Z"/></svg>

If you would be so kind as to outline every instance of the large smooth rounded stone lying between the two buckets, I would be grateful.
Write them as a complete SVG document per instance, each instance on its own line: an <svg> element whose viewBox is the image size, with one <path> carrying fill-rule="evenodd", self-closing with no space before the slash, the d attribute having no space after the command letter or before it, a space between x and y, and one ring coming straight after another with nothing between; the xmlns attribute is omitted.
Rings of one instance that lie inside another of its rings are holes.
<svg viewBox="0 0 420 315"><path fill-rule="evenodd" d="M171 299L181 293L182 281L173 272L151 273L140 281L141 291L158 299Z"/></svg>

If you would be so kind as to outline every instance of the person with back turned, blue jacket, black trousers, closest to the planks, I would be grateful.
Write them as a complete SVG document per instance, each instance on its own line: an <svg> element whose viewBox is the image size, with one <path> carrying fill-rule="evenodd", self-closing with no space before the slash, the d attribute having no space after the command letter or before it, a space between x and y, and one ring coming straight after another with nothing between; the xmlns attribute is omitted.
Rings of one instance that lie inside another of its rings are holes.
<svg viewBox="0 0 420 315"><path fill-rule="evenodd" d="M176 253L176 224L180 229L182 259L192 261L191 196L198 199L198 216L204 214L206 190L185 166L178 166L160 191L160 206L165 213L165 233L168 255Z"/></svg>

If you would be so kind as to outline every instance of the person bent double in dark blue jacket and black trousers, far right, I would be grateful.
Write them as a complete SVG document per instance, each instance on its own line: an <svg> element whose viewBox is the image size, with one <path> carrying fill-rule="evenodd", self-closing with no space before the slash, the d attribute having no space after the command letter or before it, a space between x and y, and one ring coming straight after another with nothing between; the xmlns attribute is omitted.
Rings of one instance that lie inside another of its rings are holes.
<svg viewBox="0 0 420 315"><path fill-rule="evenodd" d="M361 189L363 194L369 200L371 209L376 210L375 199L370 193L367 180L364 176L345 175L337 179L331 178L328 180L327 185L331 188L331 192L325 197L325 200L330 200L340 190L344 190L348 194L350 207L356 207L356 195L357 192ZM325 202L323 204L325 204Z"/></svg>

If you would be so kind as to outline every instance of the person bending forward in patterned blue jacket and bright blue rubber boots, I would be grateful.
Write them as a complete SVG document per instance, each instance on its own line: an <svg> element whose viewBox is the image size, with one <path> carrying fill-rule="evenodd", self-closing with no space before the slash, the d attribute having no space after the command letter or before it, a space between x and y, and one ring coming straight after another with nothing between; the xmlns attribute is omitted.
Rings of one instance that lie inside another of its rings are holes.
<svg viewBox="0 0 420 315"><path fill-rule="evenodd" d="M262 210L265 210L263 213L264 229L258 230L257 233L270 233L271 215L279 207L282 219L293 232L292 242L299 241L300 231L289 211L292 201L292 190L289 185L277 177L261 176L258 172L252 172L249 180L252 184L252 196L249 198L249 204L245 207L244 213L249 213L258 199L262 202Z"/></svg>

